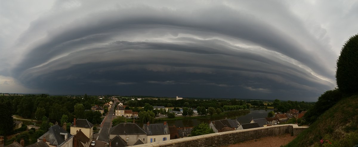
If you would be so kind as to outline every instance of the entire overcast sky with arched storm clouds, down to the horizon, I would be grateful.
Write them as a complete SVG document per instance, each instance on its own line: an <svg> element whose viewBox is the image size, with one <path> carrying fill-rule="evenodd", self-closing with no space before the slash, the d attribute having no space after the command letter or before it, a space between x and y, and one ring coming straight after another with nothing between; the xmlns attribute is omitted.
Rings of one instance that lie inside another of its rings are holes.
<svg viewBox="0 0 358 147"><path fill-rule="evenodd" d="M316 101L358 1L0 1L0 92Z"/></svg>

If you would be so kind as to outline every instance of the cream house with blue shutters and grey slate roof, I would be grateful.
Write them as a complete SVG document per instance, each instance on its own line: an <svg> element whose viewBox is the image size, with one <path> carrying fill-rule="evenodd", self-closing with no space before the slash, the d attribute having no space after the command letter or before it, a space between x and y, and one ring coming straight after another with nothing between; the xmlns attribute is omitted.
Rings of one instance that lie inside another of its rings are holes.
<svg viewBox="0 0 358 147"><path fill-rule="evenodd" d="M147 133L147 142L158 142L170 140L169 126L164 123L147 124L143 125L143 130Z"/></svg>

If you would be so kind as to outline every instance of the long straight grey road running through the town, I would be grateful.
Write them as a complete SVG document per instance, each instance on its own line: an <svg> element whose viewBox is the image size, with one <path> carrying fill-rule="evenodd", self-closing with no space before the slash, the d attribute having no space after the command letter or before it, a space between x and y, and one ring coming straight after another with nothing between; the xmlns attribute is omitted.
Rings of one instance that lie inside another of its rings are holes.
<svg viewBox="0 0 358 147"><path fill-rule="evenodd" d="M114 108L116 106L116 103L113 103L112 108L110 109L110 111L107 113L107 116L105 117L105 120L103 121L103 123L101 124L101 132L100 132L100 136L98 137L99 141L105 141L105 142L109 142L109 131L112 125L112 120L113 120L113 111Z"/></svg>

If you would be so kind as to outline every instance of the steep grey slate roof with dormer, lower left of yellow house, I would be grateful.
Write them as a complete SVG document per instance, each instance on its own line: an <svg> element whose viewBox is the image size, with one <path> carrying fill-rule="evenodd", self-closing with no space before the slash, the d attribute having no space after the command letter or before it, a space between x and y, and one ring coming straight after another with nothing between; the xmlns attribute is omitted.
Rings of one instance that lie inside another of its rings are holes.
<svg viewBox="0 0 358 147"><path fill-rule="evenodd" d="M48 128L48 131L46 133L44 133L37 139L42 140L42 138L45 137L46 142L49 142L50 145L58 146L65 142L64 135L60 135L60 133L67 133L67 138L72 137L70 133L68 133L66 130L63 130L63 128L59 125L53 125L52 127Z"/></svg>

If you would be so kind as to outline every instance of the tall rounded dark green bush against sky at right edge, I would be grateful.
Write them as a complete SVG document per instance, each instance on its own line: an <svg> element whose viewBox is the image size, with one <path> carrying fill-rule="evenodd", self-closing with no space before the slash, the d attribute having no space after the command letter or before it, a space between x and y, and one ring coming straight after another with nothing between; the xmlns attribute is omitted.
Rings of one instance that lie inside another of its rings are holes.
<svg viewBox="0 0 358 147"><path fill-rule="evenodd" d="M358 93L358 34L349 38L337 60L337 86L346 95Z"/></svg>

